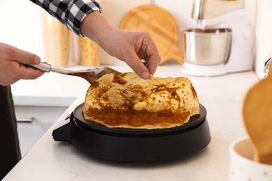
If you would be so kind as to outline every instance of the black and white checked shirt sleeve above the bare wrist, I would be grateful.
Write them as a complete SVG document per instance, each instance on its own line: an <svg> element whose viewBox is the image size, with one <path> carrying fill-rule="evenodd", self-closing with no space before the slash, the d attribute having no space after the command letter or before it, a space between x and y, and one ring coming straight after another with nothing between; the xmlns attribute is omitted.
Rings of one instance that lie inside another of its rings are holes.
<svg viewBox="0 0 272 181"><path fill-rule="evenodd" d="M80 24L84 17L94 10L102 9L96 0L30 0L38 6L45 9L50 15L59 19L68 29L78 36L80 33Z"/></svg>

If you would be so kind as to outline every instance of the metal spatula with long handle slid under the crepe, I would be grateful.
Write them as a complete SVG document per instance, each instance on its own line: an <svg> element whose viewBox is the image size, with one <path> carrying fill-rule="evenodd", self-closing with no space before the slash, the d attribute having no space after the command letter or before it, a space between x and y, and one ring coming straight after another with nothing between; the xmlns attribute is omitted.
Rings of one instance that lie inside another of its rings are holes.
<svg viewBox="0 0 272 181"><path fill-rule="evenodd" d="M66 70L62 68L54 68L52 65L41 62L38 65L27 65L31 68L36 68L38 70L42 70L43 72L56 72L60 74L68 74L68 75L73 75L77 77L82 77L83 79L86 79L86 81L89 81L90 84L93 83L93 81L96 81L100 77L102 77L104 74L121 74L121 72L118 72L112 68L102 66L102 67L97 67L97 68L90 68L86 70Z"/></svg>

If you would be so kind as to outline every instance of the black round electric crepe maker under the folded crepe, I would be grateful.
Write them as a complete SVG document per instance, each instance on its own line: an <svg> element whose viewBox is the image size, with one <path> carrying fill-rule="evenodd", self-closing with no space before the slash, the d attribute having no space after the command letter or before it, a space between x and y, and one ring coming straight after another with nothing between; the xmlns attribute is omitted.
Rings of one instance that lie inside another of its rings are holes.
<svg viewBox="0 0 272 181"><path fill-rule="evenodd" d="M121 162L153 162L184 157L211 141L206 109L188 123L165 129L109 128L84 119L83 104L52 133L55 141L68 141L88 155Z"/></svg>

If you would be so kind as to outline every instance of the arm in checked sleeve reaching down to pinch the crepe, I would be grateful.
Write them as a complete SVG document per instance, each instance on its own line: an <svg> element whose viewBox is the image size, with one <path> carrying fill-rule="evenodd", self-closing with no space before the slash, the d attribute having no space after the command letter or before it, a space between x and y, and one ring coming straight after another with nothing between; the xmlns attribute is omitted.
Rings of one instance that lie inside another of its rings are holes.
<svg viewBox="0 0 272 181"><path fill-rule="evenodd" d="M95 41L105 51L125 61L139 77L148 79L156 72L160 54L149 33L124 31L111 26L94 0L31 0L66 24L79 36ZM100 13L98 12L100 11ZM142 63L143 60L146 65Z"/></svg>

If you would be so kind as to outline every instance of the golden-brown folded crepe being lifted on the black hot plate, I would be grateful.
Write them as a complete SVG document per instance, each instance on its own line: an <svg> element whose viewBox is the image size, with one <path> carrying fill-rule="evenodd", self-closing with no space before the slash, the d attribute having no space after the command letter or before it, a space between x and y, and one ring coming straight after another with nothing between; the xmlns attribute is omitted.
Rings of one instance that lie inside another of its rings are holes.
<svg viewBox="0 0 272 181"><path fill-rule="evenodd" d="M105 74L89 87L82 111L86 120L107 127L161 129L199 114L199 100L186 77Z"/></svg>

